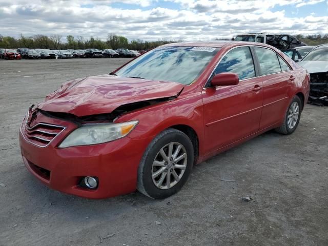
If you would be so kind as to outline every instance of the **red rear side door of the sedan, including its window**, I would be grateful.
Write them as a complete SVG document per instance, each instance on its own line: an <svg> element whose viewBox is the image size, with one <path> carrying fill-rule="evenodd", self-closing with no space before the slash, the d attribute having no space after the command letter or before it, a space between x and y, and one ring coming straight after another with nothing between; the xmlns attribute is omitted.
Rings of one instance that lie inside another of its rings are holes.
<svg viewBox="0 0 328 246"><path fill-rule="evenodd" d="M254 47L263 81L263 109L260 129L277 124L289 105L295 72L272 49Z"/></svg>

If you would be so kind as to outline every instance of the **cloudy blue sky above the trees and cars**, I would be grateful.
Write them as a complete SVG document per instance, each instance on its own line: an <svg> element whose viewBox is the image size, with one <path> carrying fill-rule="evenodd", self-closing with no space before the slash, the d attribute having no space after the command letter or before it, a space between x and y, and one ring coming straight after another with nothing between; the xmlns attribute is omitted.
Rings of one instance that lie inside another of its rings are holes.
<svg viewBox="0 0 328 246"><path fill-rule="evenodd" d="M328 0L0 0L0 34L213 40L328 33Z"/></svg>

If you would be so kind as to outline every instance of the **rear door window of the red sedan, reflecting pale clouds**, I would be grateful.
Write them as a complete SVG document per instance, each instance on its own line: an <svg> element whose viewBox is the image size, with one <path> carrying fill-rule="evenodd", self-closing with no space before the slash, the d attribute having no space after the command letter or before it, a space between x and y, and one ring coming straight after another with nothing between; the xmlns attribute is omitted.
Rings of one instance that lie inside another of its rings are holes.
<svg viewBox="0 0 328 246"><path fill-rule="evenodd" d="M281 72L276 52L259 47L254 47L254 49L260 64L262 75Z"/></svg>

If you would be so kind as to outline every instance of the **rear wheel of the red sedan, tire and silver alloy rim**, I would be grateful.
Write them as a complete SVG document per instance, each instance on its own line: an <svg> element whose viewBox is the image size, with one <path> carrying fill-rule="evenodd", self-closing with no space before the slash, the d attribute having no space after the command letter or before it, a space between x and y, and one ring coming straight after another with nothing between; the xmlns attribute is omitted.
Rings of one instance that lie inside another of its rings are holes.
<svg viewBox="0 0 328 246"><path fill-rule="evenodd" d="M296 109L294 110L293 106L296 107L297 105L297 119L295 117L296 115ZM294 96L291 104L288 106L288 109L285 113L285 117L283 120L283 124L276 128L276 132L280 133L280 134L284 134L284 135L289 135L292 134L293 132L295 132L298 124L299 124L299 120L301 118L301 109L302 109L302 101L298 96ZM290 124L289 119L292 118L291 120L293 121L292 124Z"/></svg>

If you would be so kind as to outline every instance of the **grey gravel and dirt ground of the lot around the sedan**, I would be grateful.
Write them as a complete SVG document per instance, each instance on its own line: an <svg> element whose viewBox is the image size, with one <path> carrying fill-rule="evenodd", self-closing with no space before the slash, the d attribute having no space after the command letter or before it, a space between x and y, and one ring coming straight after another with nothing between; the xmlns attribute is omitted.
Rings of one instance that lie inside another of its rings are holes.
<svg viewBox="0 0 328 246"><path fill-rule="evenodd" d="M0 245L328 245L325 107L307 105L292 135L271 131L201 163L165 200L88 200L37 181L17 139L28 107L126 61L0 60Z"/></svg>

